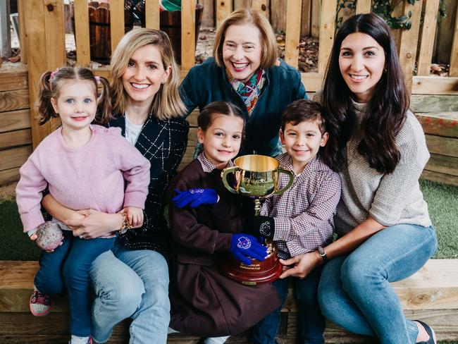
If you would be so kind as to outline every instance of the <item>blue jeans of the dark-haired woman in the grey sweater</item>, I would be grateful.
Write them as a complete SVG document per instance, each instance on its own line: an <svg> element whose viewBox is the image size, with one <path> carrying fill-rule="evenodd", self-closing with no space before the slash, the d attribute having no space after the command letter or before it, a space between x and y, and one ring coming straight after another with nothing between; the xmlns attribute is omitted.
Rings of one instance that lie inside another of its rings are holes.
<svg viewBox="0 0 458 344"><path fill-rule="evenodd" d="M415 343L418 328L405 319L390 282L418 271L435 253L432 227L400 224L383 229L347 256L323 269L318 302L324 316L380 343Z"/></svg>

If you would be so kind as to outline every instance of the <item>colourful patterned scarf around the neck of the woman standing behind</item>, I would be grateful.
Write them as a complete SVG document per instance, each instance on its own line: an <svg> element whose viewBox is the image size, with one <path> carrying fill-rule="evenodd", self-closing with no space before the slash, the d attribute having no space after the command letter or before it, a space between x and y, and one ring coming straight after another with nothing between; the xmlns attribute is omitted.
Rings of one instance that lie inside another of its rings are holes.
<svg viewBox="0 0 458 344"><path fill-rule="evenodd" d="M248 114L251 115L258 101L259 94L261 94L261 89L266 81L266 70L259 68L254 72L251 78L244 84L242 81L233 79L228 70L226 70L228 78L230 80L230 85L237 94L242 97L245 106L247 106Z"/></svg>

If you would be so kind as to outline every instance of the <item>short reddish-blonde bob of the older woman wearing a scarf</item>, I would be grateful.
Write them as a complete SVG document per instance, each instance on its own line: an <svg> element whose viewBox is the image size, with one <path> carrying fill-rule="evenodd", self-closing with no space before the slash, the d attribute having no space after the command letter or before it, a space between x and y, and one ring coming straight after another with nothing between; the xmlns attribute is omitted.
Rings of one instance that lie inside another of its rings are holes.
<svg viewBox="0 0 458 344"><path fill-rule="evenodd" d="M261 33L261 68L267 69L275 65L277 55L277 39L273 33L271 23L267 18L259 13L248 8L241 8L230 13L228 18L225 18L218 31L216 31L215 42L213 44L213 57L216 64L224 68L223 61L223 44L225 32L230 25L252 24Z"/></svg>

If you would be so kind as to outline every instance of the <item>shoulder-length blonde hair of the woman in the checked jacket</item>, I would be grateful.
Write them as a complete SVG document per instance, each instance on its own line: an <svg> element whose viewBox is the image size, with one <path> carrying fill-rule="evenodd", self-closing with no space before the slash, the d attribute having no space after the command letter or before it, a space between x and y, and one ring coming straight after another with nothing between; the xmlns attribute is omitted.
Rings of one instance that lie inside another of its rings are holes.
<svg viewBox="0 0 458 344"><path fill-rule="evenodd" d="M123 86L123 73L132 54L147 44L152 44L159 49L164 70L171 67L168 80L159 87L159 91L154 96L151 112L161 121L184 115L186 107L178 92L180 73L173 56L170 39L165 32L145 28L135 29L125 34L111 56L110 86L113 110L116 113L125 112L128 105L128 94Z"/></svg>

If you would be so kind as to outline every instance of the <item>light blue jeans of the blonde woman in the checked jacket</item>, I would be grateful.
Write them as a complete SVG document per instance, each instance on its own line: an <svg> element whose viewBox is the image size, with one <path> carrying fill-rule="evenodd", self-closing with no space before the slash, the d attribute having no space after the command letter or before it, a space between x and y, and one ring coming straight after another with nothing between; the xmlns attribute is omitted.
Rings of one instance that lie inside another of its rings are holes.
<svg viewBox="0 0 458 344"><path fill-rule="evenodd" d="M130 250L119 241L101 254L90 270L96 293L92 336L109 340L113 327L132 318L130 344L166 343L170 322L168 266L151 250Z"/></svg>

